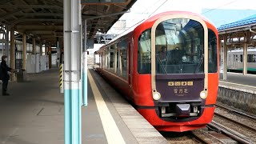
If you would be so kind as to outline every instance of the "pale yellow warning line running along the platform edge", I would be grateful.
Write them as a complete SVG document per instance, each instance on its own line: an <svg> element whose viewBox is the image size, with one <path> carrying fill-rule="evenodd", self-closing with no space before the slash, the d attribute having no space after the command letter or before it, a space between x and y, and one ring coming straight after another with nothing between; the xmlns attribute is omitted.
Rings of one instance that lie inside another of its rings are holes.
<svg viewBox="0 0 256 144"><path fill-rule="evenodd" d="M106 102L102 98L102 94L99 92L94 78L92 78L90 71L88 73L90 86L93 90L96 105L98 107L98 113L102 119L102 126L106 134L107 142L110 144L122 144L126 143L122 138L122 134L118 130L118 126L114 122L114 118L110 114L110 110L106 106Z"/></svg>

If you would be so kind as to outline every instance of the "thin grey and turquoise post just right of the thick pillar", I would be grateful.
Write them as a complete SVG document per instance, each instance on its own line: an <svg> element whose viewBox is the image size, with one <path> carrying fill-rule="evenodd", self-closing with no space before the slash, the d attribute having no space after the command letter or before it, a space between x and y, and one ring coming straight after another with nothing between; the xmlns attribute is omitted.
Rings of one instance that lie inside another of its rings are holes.
<svg viewBox="0 0 256 144"><path fill-rule="evenodd" d="M82 105L87 106L87 37L86 37L86 20L84 22L84 46L82 50Z"/></svg>

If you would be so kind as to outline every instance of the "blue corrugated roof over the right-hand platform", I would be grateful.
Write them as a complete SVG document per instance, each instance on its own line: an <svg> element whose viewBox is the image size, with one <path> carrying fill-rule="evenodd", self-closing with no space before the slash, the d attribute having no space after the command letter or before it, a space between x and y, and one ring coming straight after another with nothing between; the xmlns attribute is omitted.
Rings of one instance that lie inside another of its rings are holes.
<svg viewBox="0 0 256 144"><path fill-rule="evenodd" d="M256 23L256 14L251 15L250 17L247 17L247 18L243 18L236 22L231 22L231 23L222 25L222 26L218 27L218 30L225 30L225 29L230 29L233 27L250 25L253 23Z"/></svg>

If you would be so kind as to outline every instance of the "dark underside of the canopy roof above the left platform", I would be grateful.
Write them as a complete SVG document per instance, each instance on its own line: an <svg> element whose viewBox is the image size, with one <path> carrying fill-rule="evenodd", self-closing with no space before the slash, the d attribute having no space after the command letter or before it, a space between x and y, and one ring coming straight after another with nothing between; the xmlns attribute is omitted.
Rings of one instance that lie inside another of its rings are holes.
<svg viewBox="0 0 256 144"><path fill-rule="evenodd" d="M106 33L136 0L82 0L87 38ZM55 43L63 37L63 0L1 0L0 25Z"/></svg>

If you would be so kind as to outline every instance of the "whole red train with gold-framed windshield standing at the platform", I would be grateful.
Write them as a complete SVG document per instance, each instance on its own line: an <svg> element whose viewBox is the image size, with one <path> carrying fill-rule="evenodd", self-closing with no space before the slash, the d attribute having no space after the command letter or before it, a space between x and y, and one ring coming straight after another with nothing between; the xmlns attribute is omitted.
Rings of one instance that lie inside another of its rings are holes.
<svg viewBox="0 0 256 144"><path fill-rule="evenodd" d="M198 14L157 14L95 53L94 67L157 130L206 126L218 94L218 30Z"/></svg>

